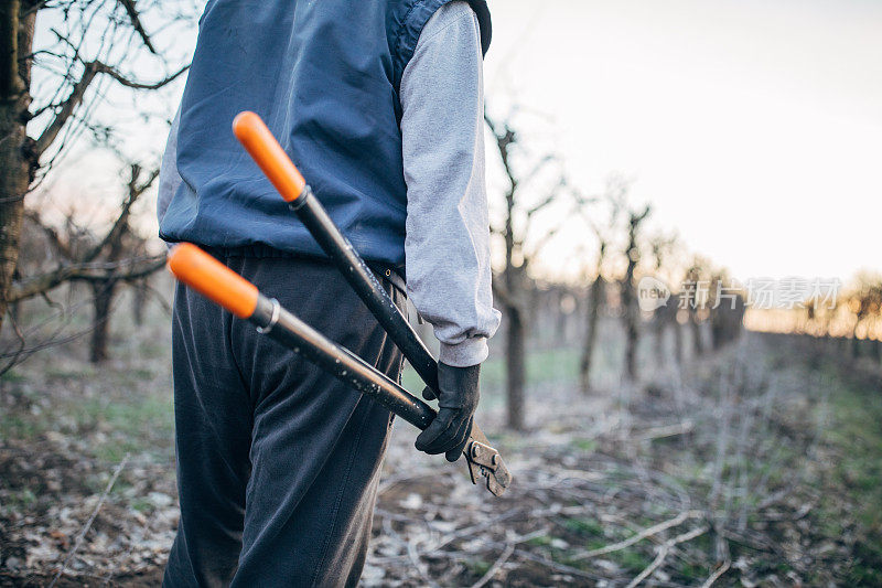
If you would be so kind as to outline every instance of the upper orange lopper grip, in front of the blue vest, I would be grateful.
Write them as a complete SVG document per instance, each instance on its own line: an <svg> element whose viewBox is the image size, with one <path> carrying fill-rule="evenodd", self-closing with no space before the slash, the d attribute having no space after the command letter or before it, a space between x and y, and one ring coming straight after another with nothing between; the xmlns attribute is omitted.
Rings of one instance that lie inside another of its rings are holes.
<svg viewBox="0 0 882 588"><path fill-rule="evenodd" d="M233 132L284 201L295 201L306 182L263 120L255 113L239 113L233 121Z"/></svg>

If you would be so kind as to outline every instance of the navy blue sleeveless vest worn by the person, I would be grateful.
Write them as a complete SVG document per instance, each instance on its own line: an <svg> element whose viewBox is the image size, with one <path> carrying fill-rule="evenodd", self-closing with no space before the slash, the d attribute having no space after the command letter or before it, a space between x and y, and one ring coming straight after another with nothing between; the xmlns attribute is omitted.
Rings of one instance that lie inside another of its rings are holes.
<svg viewBox="0 0 882 588"><path fill-rule="evenodd" d="M211 0L181 105L183 184L160 236L321 255L233 136L234 117L254 110L356 249L402 266L398 90L423 25L447 1ZM486 1L470 3L486 52Z"/></svg>

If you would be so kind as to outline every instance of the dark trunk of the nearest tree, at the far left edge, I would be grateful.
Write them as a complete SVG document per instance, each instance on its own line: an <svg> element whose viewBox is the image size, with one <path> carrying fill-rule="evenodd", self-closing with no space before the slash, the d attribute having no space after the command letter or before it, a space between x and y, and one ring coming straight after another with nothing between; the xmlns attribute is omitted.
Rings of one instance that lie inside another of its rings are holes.
<svg viewBox="0 0 882 588"><path fill-rule="evenodd" d="M36 170L33 141L25 133L36 10L23 19L21 13L20 0L0 4L0 328L19 260L24 195Z"/></svg>

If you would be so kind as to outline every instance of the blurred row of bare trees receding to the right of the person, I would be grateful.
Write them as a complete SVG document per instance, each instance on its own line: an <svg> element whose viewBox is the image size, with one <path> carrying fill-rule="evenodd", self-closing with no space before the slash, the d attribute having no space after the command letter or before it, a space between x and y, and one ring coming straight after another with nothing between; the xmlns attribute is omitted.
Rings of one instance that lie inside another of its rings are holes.
<svg viewBox="0 0 882 588"><path fill-rule="evenodd" d="M631 201L625 179L613 177L604 193L585 196L569 185L559 169L545 173L557 158L527 152L510 121L491 117L486 121L506 178L503 225L493 227L505 255L493 289L505 318L502 336L510 428L526 426L527 333L536 332L541 322L558 324L559 333L564 334L571 330L567 325L576 321L581 333L578 381L585 394L592 392L592 367L604 316L615 317L621 323L625 341L622 376L631 385L648 375L641 374L641 370L650 364L638 357L639 343L647 334L656 340L656 363L660 364L668 361L663 343L667 333L673 333L670 355L675 366L686 357L685 331L691 341L691 356L722 349L739 339L744 292L733 290L725 284L725 274L700 257L682 267L688 256L676 236L649 232L653 211ZM580 284L541 285L528 272L542 247L559 231L555 225L541 233L536 229L537 217L551 210L561 224L578 218L584 228L587 242L573 247L574 255L583 256L584 261ZM638 300L638 282L645 276L664 278L670 288L667 303L652 311L642 310ZM681 291L680 287L688 284L700 284L702 288ZM563 301L572 308L563 308Z"/></svg>

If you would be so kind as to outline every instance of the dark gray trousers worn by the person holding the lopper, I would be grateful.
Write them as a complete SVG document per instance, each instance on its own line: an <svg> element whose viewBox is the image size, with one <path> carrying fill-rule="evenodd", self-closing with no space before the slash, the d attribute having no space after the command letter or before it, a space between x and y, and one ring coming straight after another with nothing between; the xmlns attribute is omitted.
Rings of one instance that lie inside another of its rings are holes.
<svg viewBox="0 0 882 588"><path fill-rule="evenodd" d="M400 352L329 264L219 258L400 376ZM180 285L172 325L181 522L163 586L357 584L389 411Z"/></svg>

